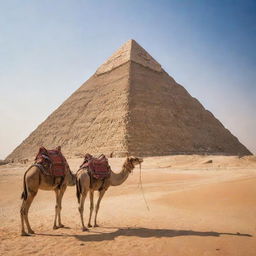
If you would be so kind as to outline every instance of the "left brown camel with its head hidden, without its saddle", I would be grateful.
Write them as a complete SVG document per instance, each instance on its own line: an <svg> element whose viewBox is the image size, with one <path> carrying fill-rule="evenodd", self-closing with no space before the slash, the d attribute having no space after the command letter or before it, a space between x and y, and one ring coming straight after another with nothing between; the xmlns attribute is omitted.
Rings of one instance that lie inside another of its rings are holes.
<svg viewBox="0 0 256 256"><path fill-rule="evenodd" d="M41 167L42 168L42 167ZM61 180L63 179L63 180ZM62 228L64 225L61 223L61 201L67 186L74 186L76 183L75 175L70 171L68 165L65 168L64 177L54 177L43 173L38 165L32 165L24 174L23 186L24 190L21 195L23 199L20 217L21 217L21 235L27 236L34 234L28 221L29 207L37 194L38 189L54 190L56 195L55 218L53 229ZM56 225L58 219L58 226ZM24 220L27 225L28 233L24 229Z"/></svg>

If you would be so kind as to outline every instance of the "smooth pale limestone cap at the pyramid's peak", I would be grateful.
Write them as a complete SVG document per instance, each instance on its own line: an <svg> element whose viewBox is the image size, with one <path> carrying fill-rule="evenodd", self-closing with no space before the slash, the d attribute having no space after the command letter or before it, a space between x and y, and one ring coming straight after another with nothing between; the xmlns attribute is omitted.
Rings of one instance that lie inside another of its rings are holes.
<svg viewBox="0 0 256 256"><path fill-rule="evenodd" d="M97 69L96 75L109 72L128 61L136 62L157 72L162 71L161 65L135 40L131 39Z"/></svg>

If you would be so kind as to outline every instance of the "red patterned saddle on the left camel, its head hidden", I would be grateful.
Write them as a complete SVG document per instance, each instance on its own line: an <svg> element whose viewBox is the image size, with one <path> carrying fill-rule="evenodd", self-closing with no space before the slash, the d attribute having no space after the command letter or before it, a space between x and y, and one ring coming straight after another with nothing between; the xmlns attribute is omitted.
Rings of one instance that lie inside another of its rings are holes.
<svg viewBox="0 0 256 256"><path fill-rule="evenodd" d="M67 161L61 153L60 146L57 147L57 149L51 150L40 147L39 152L35 158L35 164L41 165L46 175L51 175L54 177L65 176Z"/></svg>

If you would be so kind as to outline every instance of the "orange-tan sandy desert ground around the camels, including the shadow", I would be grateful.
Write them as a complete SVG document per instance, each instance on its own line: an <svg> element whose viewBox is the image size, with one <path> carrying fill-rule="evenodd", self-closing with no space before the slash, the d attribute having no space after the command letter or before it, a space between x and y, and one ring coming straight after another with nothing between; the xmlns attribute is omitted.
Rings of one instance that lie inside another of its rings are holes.
<svg viewBox="0 0 256 256"><path fill-rule="evenodd" d="M206 163L212 160L212 163ZM81 159L69 159L73 171ZM118 171L123 159L110 159ZM20 236L19 207L26 165L0 167L0 255L256 255L255 157L146 158L111 187L99 212L101 227L82 232L75 187L68 187L62 220L53 230L54 192L39 191L30 209L36 234ZM89 205L86 199L85 220Z"/></svg>

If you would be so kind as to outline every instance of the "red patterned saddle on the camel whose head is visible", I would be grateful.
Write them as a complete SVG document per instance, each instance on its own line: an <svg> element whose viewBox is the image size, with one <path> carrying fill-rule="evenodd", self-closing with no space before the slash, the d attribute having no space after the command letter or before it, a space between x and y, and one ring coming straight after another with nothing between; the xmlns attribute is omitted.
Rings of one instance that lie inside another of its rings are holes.
<svg viewBox="0 0 256 256"><path fill-rule="evenodd" d="M90 154L85 154L84 162L80 168L86 168L89 175L96 180L104 180L110 177L111 168L105 155L93 157Z"/></svg>

